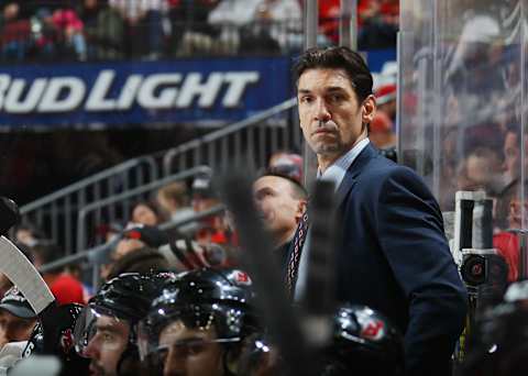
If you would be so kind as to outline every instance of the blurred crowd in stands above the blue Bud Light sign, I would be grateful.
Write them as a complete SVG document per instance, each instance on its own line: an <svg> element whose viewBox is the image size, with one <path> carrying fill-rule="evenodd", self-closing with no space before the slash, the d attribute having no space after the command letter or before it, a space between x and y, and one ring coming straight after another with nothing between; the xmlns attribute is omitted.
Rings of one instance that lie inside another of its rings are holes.
<svg viewBox="0 0 528 376"><path fill-rule="evenodd" d="M7 1L2 62L284 54L302 48L300 0ZM398 0L359 1L360 49L395 48ZM339 41L340 1L319 1L319 44Z"/></svg>

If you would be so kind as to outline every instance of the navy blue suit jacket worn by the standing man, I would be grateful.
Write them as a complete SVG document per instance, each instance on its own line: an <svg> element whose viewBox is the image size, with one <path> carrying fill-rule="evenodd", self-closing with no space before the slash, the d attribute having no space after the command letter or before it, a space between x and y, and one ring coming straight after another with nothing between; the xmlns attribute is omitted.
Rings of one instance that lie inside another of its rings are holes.
<svg viewBox="0 0 528 376"><path fill-rule="evenodd" d="M466 290L440 208L411 169L369 144L337 192L342 215L338 298L387 316L405 334L408 375L449 375Z"/></svg>

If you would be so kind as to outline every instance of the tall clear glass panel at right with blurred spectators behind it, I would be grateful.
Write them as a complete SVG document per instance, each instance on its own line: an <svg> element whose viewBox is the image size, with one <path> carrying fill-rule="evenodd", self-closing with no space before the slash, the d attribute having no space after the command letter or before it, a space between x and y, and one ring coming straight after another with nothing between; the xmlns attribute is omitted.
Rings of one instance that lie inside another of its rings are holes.
<svg viewBox="0 0 528 376"><path fill-rule="evenodd" d="M444 212L459 190L493 199L509 280L527 269L527 14L526 0L402 0L398 47L400 161Z"/></svg>

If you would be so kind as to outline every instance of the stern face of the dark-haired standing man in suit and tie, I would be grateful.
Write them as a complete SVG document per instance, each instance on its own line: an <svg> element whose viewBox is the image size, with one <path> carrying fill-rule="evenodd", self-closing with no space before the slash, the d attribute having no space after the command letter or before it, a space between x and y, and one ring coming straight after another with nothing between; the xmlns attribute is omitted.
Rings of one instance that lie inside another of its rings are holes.
<svg viewBox="0 0 528 376"><path fill-rule="evenodd" d="M326 169L366 137L366 123L375 113L369 96L359 103L343 69L307 69L297 85L300 128L305 140Z"/></svg>

